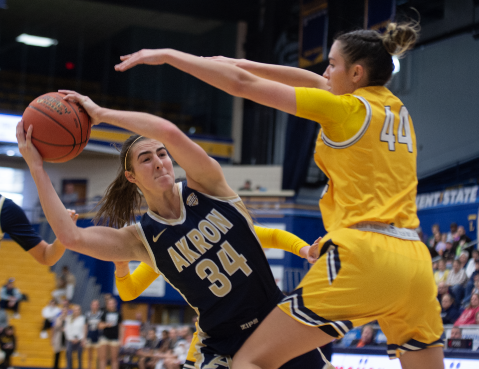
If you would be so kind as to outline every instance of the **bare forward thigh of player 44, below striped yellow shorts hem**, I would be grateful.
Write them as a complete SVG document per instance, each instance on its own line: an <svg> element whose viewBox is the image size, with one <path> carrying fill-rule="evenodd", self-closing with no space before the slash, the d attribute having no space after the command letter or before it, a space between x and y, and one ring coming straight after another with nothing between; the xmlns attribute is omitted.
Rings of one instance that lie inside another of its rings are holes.
<svg viewBox="0 0 479 369"><path fill-rule="evenodd" d="M332 340L317 327L301 324L274 308L235 355L233 369L254 368L254 365L277 369Z"/></svg>

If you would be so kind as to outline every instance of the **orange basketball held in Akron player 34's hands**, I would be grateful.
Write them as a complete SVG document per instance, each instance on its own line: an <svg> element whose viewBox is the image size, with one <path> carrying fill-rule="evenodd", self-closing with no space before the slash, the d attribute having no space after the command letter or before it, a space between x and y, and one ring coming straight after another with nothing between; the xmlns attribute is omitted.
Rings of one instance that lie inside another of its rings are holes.
<svg viewBox="0 0 479 369"><path fill-rule="evenodd" d="M82 152L90 138L90 117L65 94L49 92L34 99L23 112L23 130L33 126L31 142L45 162L63 163Z"/></svg>

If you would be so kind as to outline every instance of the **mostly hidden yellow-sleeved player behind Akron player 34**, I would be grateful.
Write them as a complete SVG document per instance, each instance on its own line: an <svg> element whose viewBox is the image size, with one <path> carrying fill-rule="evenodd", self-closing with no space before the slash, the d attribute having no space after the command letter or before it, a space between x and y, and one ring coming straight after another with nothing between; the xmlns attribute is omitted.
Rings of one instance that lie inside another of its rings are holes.
<svg viewBox="0 0 479 369"><path fill-rule="evenodd" d="M309 251L309 245L296 235L281 229L264 228L257 225L254 226L254 231L263 248L283 249L299 257L304 257L311 263L316 262L316 258L308 257L307 251ZM316 242L318 241L319 240ZM315 244L313 245L315 246ZM115 262L115 267L116 287L123 301L136 299L160 276L160 274L156 273L148 264L143 262L138 265L133 274L130 274L127 261ZM183 368L195 369L195 353L198 342L198 333L195 332Z"/></svg>

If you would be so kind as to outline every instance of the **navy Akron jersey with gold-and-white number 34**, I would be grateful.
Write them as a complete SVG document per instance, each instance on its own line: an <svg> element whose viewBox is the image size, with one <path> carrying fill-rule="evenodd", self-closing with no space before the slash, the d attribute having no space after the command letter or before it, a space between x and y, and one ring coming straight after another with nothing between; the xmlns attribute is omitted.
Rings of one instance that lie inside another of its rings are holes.
<svg viewBox="0 0 479 369"><path fill-rule="evenodd" d="M181 214L148 210L136 224L153 268L199 315L210 336L248 330L281 292L239 196L213 197L178 183Z"/></svg>

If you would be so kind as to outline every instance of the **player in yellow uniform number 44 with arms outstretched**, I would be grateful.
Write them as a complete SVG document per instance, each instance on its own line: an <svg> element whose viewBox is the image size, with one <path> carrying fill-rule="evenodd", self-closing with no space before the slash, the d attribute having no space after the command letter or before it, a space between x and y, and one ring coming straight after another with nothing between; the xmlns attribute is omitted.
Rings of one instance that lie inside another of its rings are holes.
<svg viewBox="0 0 479 369"><path fill-rule="evenodd" d="M246 341L235 369L277 368L374 320L403 368L444 367L431 257L414 232L416 136L407 108L384 87L392 55L411 48L418 29L417 22L390 23L383 34L338 36L325 78L246 62L250 73L230 60L172 49L141 50L115 66L170 64L232 95L321 124L315 161L329 185L320 200L328 233L319 260Z"/></svg>

